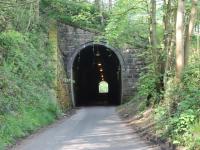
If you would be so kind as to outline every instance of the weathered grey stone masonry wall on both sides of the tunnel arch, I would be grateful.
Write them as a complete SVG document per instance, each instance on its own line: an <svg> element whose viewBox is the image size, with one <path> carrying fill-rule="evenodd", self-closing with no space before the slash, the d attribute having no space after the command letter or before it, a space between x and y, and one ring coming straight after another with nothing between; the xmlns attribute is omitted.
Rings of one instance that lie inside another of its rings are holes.
<svg viewBox="0 0 200 150"><path fill-rule="evenodd" d="M72 55L74 52L85 43L94 41L95 37L96 34L93 32L58 23L58 45L63 54L65 70L68 77L70 77L71 71L69 64L72 63ZM132 97L136 91L137 80L143 66L143 61L136 55L137 51L131 48L120 50L124 61L124 68L122 68L123 100Z"/></svg>

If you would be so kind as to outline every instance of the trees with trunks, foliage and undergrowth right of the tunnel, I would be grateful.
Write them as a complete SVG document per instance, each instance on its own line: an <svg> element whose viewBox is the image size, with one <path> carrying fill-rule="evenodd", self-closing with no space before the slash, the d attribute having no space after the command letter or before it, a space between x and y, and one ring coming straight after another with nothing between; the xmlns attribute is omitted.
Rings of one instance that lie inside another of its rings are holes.
<svg viewBox="0 0 200 150"><path fill-rule="evenodd" d="M151 107L156 134L187 149L200 147L199 9L196 0L118 0L105 30L112 43L142 48L146 65L131 102Z"/></svg>

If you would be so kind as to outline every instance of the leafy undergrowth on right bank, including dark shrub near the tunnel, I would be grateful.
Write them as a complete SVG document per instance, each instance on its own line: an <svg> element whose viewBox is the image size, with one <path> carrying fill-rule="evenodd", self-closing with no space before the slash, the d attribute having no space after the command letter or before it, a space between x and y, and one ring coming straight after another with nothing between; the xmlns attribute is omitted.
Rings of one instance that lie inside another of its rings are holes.
<svg viewBox="0 0 200 150"><path fill-rule="evenodd" d="M169 77L165 90L161 93L155 90L157 76L154 75L150 64L146 67L147 72L141 74L136 97L143 106L140 112L148 107L153 108L155 134L163 139L169 139L177 146L199 150L200 63L198 55L191 56L190 59L181 82L177 82L174 76ZM138 100L134 98L134 104L135 101Z"/></svg>

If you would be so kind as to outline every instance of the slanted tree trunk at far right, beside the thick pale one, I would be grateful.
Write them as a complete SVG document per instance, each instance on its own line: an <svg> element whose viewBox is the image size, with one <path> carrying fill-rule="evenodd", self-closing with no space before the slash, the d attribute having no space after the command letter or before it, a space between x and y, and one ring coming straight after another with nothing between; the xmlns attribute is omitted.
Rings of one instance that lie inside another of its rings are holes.
<svg viewBox="0 0 200 150"><path fill-rule="evenodd" d="M186 29L186 35L185 35L185 65L188 63L188 57L189 57L189 53L190 53L190 40L191 40L191 36L192 36L192 31L194 29L194 25L195 25L195 21L196 21L196 17L197 17L197 2L198 0L192 0L192 8L191 8L191 12L190 12L190 21L189 24L187 26Z"/></svg>

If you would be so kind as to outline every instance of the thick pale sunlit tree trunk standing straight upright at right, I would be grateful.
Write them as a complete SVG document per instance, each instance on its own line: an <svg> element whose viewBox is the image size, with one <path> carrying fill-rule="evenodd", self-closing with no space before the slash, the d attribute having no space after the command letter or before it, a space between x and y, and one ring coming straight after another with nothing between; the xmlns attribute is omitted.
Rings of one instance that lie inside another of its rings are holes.
<svg viewBox="0 0 200 150"><path fill-rule="evenodd" d="M184 69L184 0L178 0L176 18L176 78L181 79Z"/></svg>

